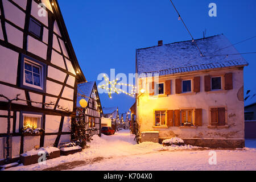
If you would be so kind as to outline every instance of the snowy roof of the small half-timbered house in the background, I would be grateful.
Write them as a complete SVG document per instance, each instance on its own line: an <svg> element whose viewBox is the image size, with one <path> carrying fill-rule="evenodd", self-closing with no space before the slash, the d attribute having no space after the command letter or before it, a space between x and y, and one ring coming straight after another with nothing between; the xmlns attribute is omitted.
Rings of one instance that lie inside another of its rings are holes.
<svg viewBox="0 0 256 182"><path fill-rule="evenodd" d="M90 94L92 94L92 90L93 90L93 86L95 84L95 81L90 81L90 82L86 82L83 84L78 84L77 85L77 93L81 94L81 95L85 95L86 97L90 97ZM79 107L79 101L83 98L82 96L80 96L79 94L77 94L77 106ZM89 98L84 98L87 102L89 101Z"/></svg>

